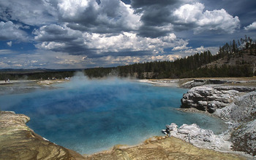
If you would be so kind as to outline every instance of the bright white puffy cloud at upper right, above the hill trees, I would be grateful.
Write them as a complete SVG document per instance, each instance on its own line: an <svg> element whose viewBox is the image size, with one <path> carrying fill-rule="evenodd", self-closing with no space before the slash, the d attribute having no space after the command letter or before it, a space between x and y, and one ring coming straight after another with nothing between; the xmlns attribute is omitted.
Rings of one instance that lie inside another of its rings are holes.
<svg viewBox="0 0 256 160"><path fill-rule="evenodd" d="M238 17L229 15L225 9L204 11L201 3L184 4L173 12L176 25L192 28L195 33L217 31L217 33L233 33L240 28Z"/></svg>

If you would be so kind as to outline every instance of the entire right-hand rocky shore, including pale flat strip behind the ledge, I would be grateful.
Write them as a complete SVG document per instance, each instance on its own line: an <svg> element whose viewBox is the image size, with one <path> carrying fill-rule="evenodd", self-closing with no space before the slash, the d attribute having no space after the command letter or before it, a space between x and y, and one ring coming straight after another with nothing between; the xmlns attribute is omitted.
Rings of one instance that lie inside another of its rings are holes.
<svg viewBox="0 0 256 160"><path fill-rule="evenodd" d="M150 81L160 82L160 85L173 83L166 79ZM197 147L256 155L255 77L180 79L176 83L179 87L189 88L181 99L181 108L178 111L205 113L224 120L229 127L221 135L214 135L209 130L200 129L196 124L184 124L179 128L176 124L170 124L163 129L166 135L181 138ZM223 147L225 143L230 143L230 146Z"/></svg>

